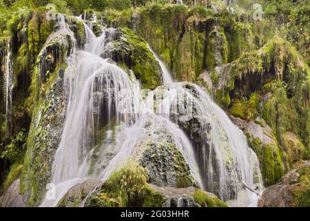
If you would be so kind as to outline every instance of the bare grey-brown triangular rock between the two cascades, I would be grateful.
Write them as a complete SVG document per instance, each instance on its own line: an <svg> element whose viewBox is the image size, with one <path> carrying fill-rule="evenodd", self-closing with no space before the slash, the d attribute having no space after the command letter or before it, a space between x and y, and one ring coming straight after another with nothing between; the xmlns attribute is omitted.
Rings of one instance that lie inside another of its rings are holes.
<svg viewBox="0 0 310 221"><path fill-rule="evenodd" d="M157 186L175 188L198 186L189 164L176 146L169 128L152 118L146 121L145 135L139 140L134 158L147 169L148 182Z"/></svg>

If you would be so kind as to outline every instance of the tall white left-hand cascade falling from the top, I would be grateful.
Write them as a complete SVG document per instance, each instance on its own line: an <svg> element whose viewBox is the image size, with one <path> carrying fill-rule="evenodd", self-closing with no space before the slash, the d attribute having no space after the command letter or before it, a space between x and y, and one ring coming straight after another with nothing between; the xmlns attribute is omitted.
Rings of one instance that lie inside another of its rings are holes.
<svg viewBox="0 0 310 221"><path fill-rule="evenodd" d="M103 127L112 119L134 124L136 113L140 112L140 85L130 81L124 70L101 58L99 50L95 50L99 48L98 40L103 47L107 44L109 34L110 30L99 38L89 35L85 50L74 52L68 59L65 70L68 111L52 171L57 198L44 200L42 206L56 206L70 187L86 179L84 162Z"/></svg>

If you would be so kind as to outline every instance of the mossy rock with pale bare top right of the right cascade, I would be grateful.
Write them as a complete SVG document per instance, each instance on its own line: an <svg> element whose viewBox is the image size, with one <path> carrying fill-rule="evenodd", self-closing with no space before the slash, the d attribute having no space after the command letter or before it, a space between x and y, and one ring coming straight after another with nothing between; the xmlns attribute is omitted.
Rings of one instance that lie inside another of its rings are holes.
<svg viewBox="0 0 310 221"><path fill-rule="evenodd" d="M258 155L266 185L275 184L285 171L291 169L294 163L304 157L305 148L296 134L285 133L281 148L271 127L261 117L256 117L255 122L230 117L234 124L247 135L249 144Z"/></svg>

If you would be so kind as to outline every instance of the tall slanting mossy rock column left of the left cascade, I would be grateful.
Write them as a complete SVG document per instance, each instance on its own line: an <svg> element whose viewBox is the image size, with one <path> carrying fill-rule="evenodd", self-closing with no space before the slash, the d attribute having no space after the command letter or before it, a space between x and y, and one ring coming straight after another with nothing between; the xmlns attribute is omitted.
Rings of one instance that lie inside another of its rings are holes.
<svg viewBox="0 0 310 221"><path fill-rule="evenodd" d="M60 68L38 111L34 113L21 177L21 193L28 205L38 205L50 180L54 153L65 120L65 91Z"/></svg>

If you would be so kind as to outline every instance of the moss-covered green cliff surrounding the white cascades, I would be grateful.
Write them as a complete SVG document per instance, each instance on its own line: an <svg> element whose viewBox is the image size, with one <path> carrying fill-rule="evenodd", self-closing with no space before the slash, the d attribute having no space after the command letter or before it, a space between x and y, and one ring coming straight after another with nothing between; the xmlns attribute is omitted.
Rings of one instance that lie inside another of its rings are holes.
<svg viewBox="0 0 310 221"><path fill-rule="evenodd" d="M92 21L96 35L103 27L115 28L112 47L105 53L128 73L133 70L142 88L154 90L163 80L147 44L174 79L203 86L247 135L265 186L309 160L309 1L257 3L261 17L247 0L229 5L200 0L195 6L187 0L183 5L174 0L0 0L1 193L21 177L19 190L28 206L38 205L43 197L65 117L66 59L74 47L87 44L83 21L75 17L79 15ZM58 32L59 18L50 19L51 9L51 15L64 15L68 32ZM300 172L302 177L306 172ZM89 205L162 205L163 195L147 186L146 177L138 178L143 194L136 201L107 183ZM216 204L205 194L189 196L200 206ZM307 202L290 205L298 203Z"/></svg>

